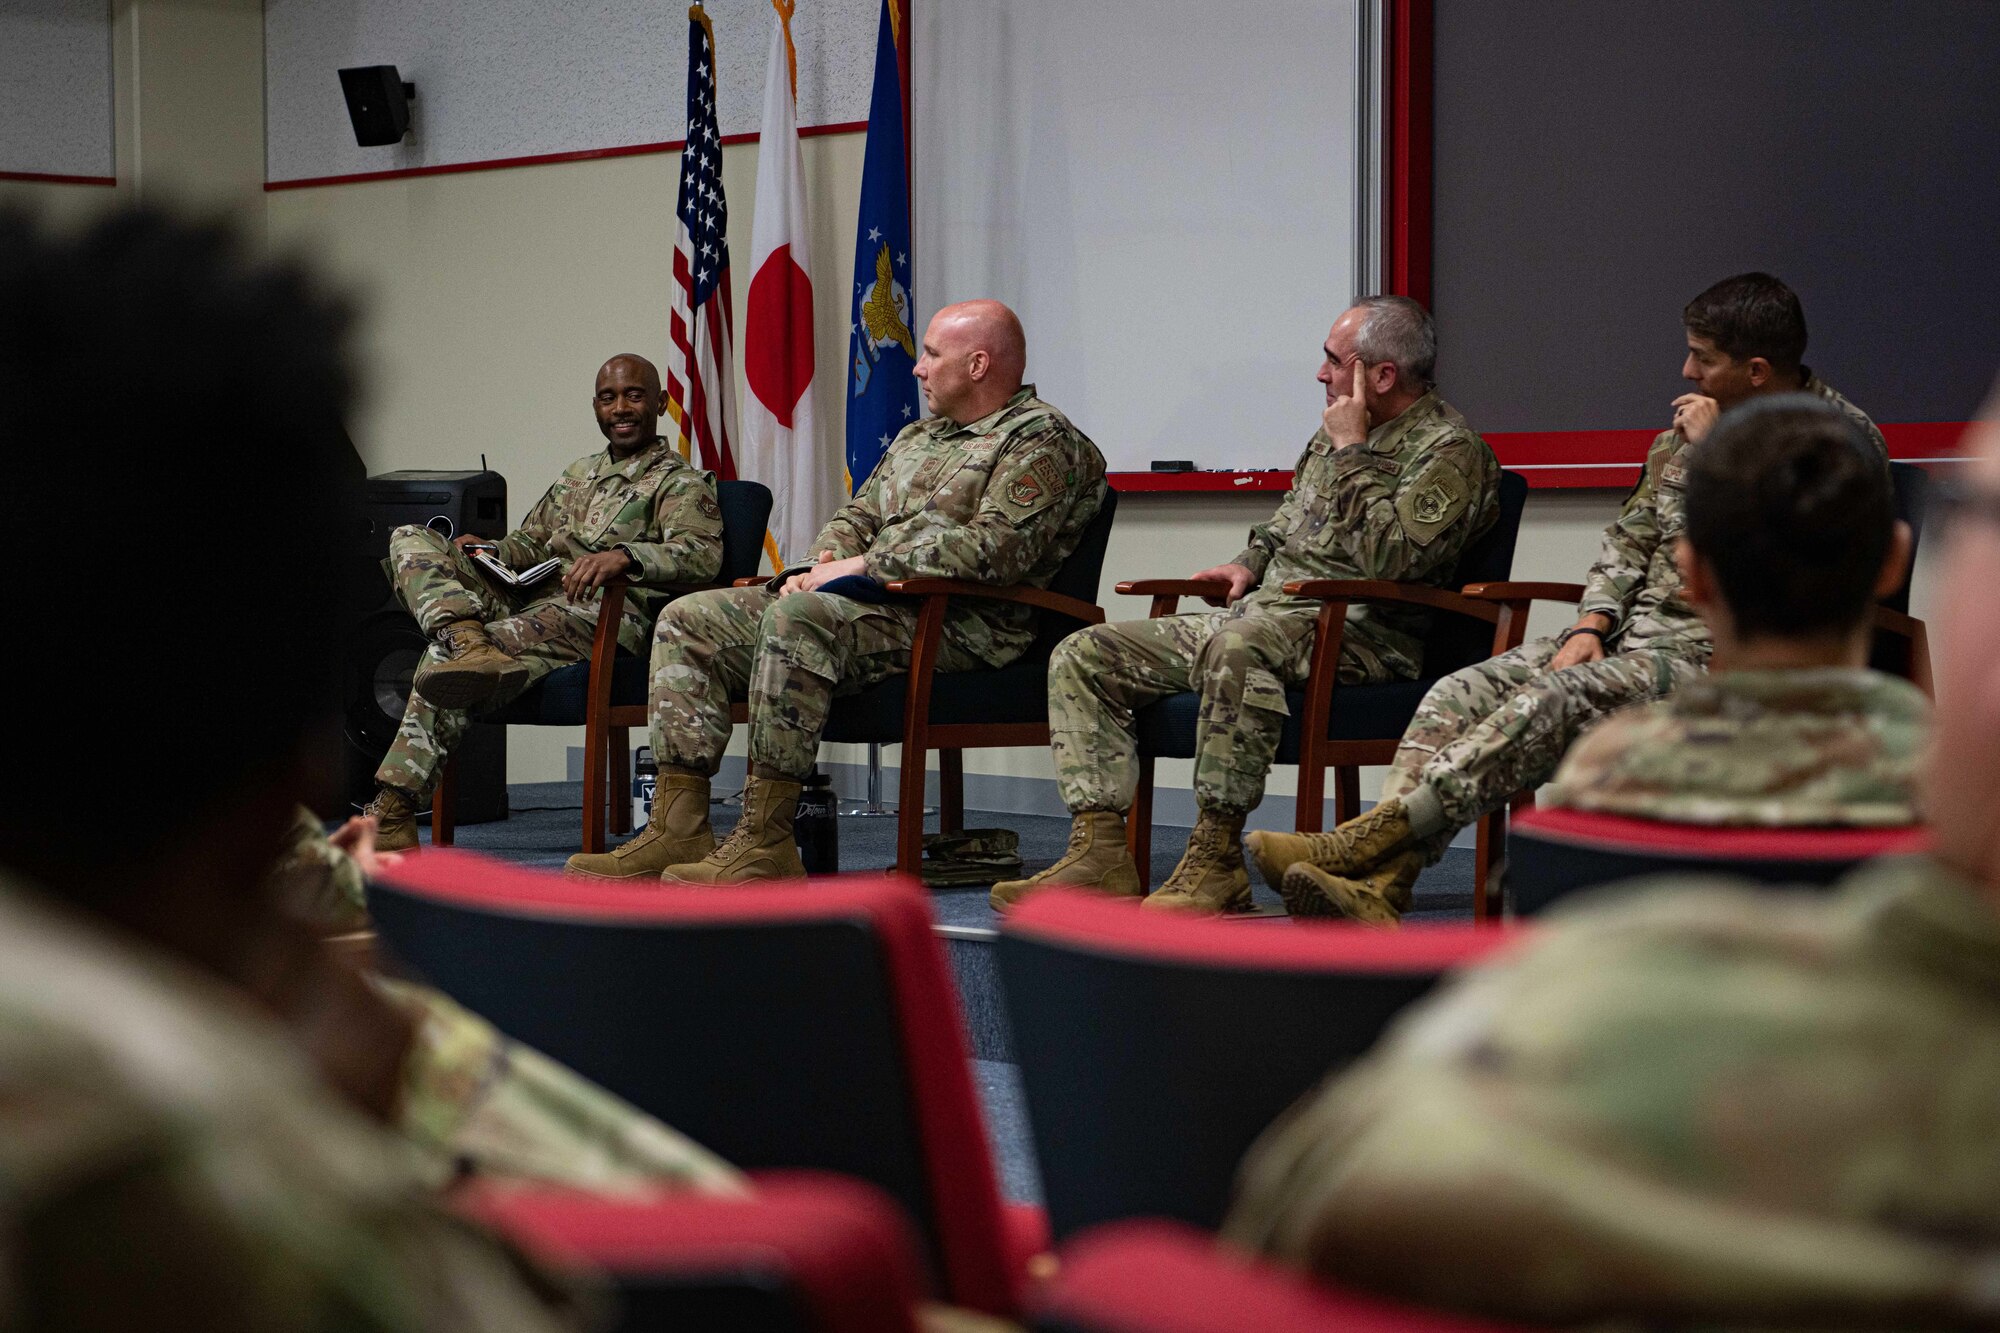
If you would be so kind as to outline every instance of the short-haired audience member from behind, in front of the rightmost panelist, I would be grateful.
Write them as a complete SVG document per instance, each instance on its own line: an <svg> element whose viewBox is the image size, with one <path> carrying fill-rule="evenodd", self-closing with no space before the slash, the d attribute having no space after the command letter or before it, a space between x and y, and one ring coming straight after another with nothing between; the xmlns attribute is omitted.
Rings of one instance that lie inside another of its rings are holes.
<svg viewBox="0 0 2000 1333"><path fill-rule="evenodd" d="M1586 731L1542 805L1692 825L1914 825L1930 703L1866 666L1870 610L1910 566L1910 528L1854 422L1804 394L1724 412L1688 452L1676 560L1714 642L1708 675Z"/></svg>

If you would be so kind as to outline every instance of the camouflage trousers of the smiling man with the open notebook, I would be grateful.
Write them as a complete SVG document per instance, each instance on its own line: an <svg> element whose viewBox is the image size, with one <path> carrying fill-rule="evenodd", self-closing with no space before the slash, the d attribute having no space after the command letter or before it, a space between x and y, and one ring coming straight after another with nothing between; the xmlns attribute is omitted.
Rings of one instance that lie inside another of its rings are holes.
<svg viewBox="0 0 2000 1333"><path fill-rule="evenodd" d="M400 600L428 638L424 662L442 662L444 646L438 632L452 620L482 620L494 646L528 669L518 691L494 699L498 709L528 691L536 681L590 656L598 610L594 604L570 602L562 590L516 592L486 578L472 556L430 528L402 526L388 540L390 576ZM626 614L618 626L618 642L638 652L646 642L646 622ZM376 783L400 787L424 799L444 771L452 753L472 725L466 709L440 709L412 693L402 711L396 741L376 769Z"/></svg>

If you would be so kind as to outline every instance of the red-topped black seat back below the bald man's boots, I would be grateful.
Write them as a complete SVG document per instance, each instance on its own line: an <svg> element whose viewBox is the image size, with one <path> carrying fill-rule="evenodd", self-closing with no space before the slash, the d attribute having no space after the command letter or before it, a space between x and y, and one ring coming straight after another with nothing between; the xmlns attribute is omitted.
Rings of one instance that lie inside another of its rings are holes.
<svg viewBox="0 0 2000 1333"><path fill-rule="evenodd" d="M746 1169L872 1181L934 1287L1008 1311L1000 1211L930 901L914 881L570 881L470 853L370 893L388 957Z"/></svg>

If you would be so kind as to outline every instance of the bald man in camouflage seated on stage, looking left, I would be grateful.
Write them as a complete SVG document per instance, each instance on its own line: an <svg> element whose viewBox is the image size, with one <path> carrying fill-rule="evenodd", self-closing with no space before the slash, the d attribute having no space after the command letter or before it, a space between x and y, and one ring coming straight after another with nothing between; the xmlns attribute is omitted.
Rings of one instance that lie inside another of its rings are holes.
<svg viewBox="0 0 2000 1333"><path fill-rule="evenodd" d="M964 578L1048 586L1104 502L1104 458L1022 384L1028 346L996 300L946 306L924 332L916 378L934 416L906 426L820 530L820 562L784 586L696 592L660 616L652 644L652 821L606 855L570 857L594 879L736 883L804 875L792 841L836 693L910 664L916 610L820 590L838 578ZM938 671L1004 666L1034 638L1026 606L954 602ZM718 847L708 783L750 705L742 819Z"/></svg>

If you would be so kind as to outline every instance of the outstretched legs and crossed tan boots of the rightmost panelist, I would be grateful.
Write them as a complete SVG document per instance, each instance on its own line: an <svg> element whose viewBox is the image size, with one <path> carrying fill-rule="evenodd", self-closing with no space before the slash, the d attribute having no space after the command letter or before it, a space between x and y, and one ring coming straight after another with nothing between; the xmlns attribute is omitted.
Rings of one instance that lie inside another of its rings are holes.
<svg viewBox="0 0 2000 1333"><path fill-rule="evenodd" d="M1404 731L1372 811L1332 833L1252 833L1258 869L1300 917L1394 925L1452 835L1554 777L1590 723L1700 675L1684 648L1640 648L1550 671L1554 638L1444 677Z"/></svg>

